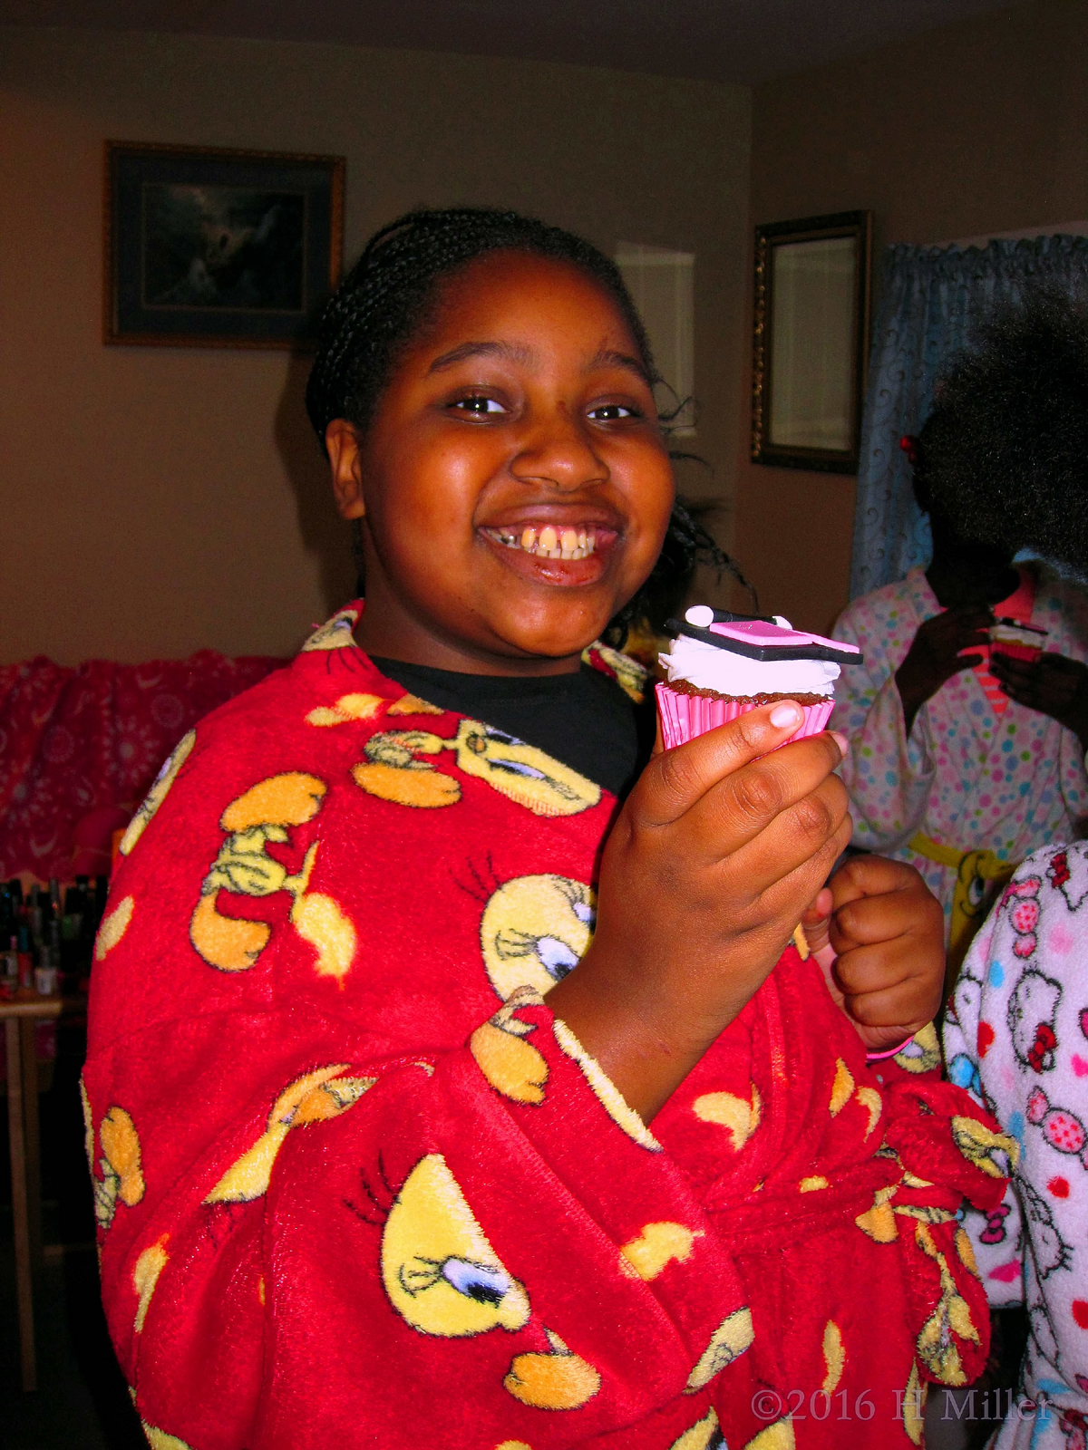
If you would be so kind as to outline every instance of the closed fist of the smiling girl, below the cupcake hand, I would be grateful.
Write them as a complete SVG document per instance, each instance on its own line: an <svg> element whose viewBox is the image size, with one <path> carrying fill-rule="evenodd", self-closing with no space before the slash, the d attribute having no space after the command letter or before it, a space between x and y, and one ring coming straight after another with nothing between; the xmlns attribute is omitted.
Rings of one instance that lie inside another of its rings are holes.
<svg viewBox="0 0 1088 1450"><path fill-rule="evenodd" d="M897 1047L937 1015L944 914L912 866L852 857L801 922L828 992L872 1053Z"/></svg>

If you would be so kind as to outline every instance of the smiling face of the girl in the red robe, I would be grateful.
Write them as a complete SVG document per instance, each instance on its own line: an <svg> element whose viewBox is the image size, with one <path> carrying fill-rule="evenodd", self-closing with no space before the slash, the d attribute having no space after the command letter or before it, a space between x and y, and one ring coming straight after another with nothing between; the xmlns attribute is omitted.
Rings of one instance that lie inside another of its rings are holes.
<svg viewBox="0 0 1088 1450"><path fill-rule="evenodd" d="M454 274L363 431L326 434L364 519L371 654L576 670L650 573L673 503L653 390L608 293L495 252Z"/></svg>

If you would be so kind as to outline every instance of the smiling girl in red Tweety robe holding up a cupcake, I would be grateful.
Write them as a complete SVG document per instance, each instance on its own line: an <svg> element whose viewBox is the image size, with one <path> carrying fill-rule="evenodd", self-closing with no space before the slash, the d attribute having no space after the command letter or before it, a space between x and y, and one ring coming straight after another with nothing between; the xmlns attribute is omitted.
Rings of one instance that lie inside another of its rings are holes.
<svg viewBox="0 0 1088 1450"><path fill-rule="evenodd" d="M653 381L612 264L512 213L400 219L328 307L366 608L178 745L97 944L154 1446L918 1444L981 1367L956 1212L1005 1144L927 1076L936 902L821 892L841 741L778 750L796 705L647 763L599 644L692 538Z"/></svg>

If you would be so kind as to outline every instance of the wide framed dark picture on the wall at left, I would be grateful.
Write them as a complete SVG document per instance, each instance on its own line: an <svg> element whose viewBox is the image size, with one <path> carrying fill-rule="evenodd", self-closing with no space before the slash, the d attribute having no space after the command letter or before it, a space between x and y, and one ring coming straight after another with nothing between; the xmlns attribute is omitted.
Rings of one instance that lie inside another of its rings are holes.
<svg viewBox="0 0 1088 1450"><path fill-rule="evenodd" d="M339 280L344 158L106 142L103 341L293 348Z"/></svg>

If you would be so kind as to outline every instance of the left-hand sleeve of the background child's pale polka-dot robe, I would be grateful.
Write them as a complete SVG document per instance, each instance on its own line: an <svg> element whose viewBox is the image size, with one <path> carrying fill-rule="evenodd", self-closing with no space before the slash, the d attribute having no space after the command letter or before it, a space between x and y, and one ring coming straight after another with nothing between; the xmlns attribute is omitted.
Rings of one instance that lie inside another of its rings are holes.
<svg viewBox="0 0 1088 1450"><path fill-rule="evenodd" d="M838 773L850 792L853 844L894 851L926 818L936 764L926 738L926 708L918 710L908 737L895 671L872 634L859 628L853 609L834 628L837 639L862 647L865 663L843 670L830 725L850 741Z"/></svg>

